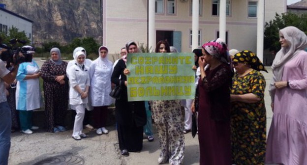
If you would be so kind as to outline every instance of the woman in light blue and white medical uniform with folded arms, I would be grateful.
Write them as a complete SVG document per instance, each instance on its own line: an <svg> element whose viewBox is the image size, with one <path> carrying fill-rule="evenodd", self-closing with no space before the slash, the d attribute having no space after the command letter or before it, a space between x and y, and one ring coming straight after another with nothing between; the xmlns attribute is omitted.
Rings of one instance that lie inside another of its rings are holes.
<svg viewBox="0 0 307 165"><path fill-rule="evenodd" d="M24 46L32 48L31 46ZM32 134L32 130L38 127L32 125L32 112L40 108L39 91L39 67L32 60L33 51L27 51L31 62L23 62L19 65L16 80L16 110L19 110L21 131L25 134Z"/></svg>

